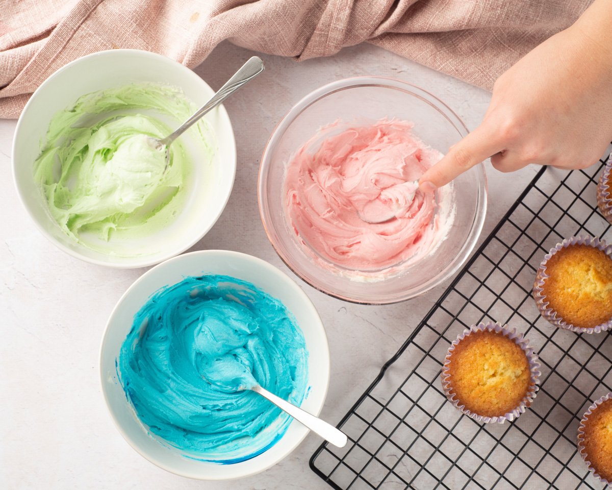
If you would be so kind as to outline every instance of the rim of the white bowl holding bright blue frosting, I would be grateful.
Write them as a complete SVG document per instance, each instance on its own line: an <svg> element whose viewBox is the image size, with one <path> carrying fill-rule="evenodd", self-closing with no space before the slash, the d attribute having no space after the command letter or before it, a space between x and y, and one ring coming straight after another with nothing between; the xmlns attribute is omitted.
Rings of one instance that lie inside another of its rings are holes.
<svg viewBox="0 0 612 490"><path fill-rule="evenodd" d="M166 464L165 462L160 461L159 459L154 458L149 454L145 454L144 451L141 450L141 448L138 446L138 444L132 440L132 438L127 434L127 432L124 431L119 421L115 418L113 410L111 409L111 404L108 398L108 391L106 388L107 380L105 379L104 372L103 372L103 355L104 355L104 349L105 349L105 344L106 344L106 337L108 336L109 331L111 329L111 322L113 321L113 318L117 314L119 306L121 306L121 304L124 303L127 296L129 296L132 293L132 290L135 289L136 286L140 284L141 282L146 281L146 279L149 276L157 272L157 269L170 268L173 265L173 263L181 262L184 260L189 260L192 257L207 257L207 256L211 256L211 258L223 258L227 260L228 262L231 262L231 260L233 260L234 258L241 258L244 260L248 260L252 262L253 264L256 264L257 266L260 266L263 269L266 269L267 273L272 274L272 276L275 276L277 279L280 279L280 281L285 282L286 287L291 289L293 294L296 295L300 299L300 301L302 301L302 303L304 303L305 306L313 313L313 318L315 318L317 321L309 323L309 328L314 328L315 330L318 331L319 334L322 335L321 338L323 339L323 342L321 342L321 345L317 346L317 349L321 353L321 363L323 363L322 365L323 365L323 370L324 370L324 376L323 376L323 379L321 380L321 382L323 383L321 386L322 392L323 392L321 402L319 403L319 406L316 408L316 410L314 410L311 413L316 416L318 416L321 413L321 410L323 410L325 401L327 399L327 393L329 392L329 380L330 380L329 341L327 339L327 333L323 325L323 320L321 320L321 315L319 315L319 312L317 311L315 304L312 302L312 300L310 300L310 298L304 292L304 290L302 290L302 288L300 288L299 285L296 283L296 281L291 279L291 277L283 273L283 271L281 271L280 269L278 269L271 263L266 262L266 260L263 260L259 257L255 257L254 255L243 254L242 252L234 252L234 251L228 251L228 250L222 250L222 249L211 249L211 250L200 250L200 251L195 251L195 252L188 252L187 254L181 254L181 255L177 255L176 257L169 258L168 260L165 260L164 262L161 262L155 265L154 267L146 271L144 274L142 274L140 277L138 277L134 282L132 282L132 284L130 284L130 286L121 295L121 298L119 298L119 300L113 307L113 310L111 311L110 315L108 316L108 320L106 321L104 332L100 340L99 358L98 358L97 367L99 371L100 385L102 388L102 398L104 399L104 403L106 405L106 412L108 413L108 415L110 415L111 420L113 420L114 426L119 431L119 434L121 434L124 440L133 448L133 450L136 451L136 453L140 454L140 456L142 456L144 459L151 462L152 464L155 464L155 466L158 466L162 468L163 470L166 470L167 472L174 473L175 475L179 475L181 477L187 477L187 478L192 478L194 480L205 480L205 481L237 480L238 478L245 478L245 477L255 475L257 473L261 473L269 469L270 467L274 466L278 462L282 461L283 459L285 459L287 456L289 456L289 454L293 453L293 451L297 448L297 446L300 445L300 443L302 443L305 437L310 433L310 430L307 429L305 426L302 426L301 424L298 423L299 428L302 429L302 434L300 434L296 438L294 443L291 444L287 448L285 453L280 454L276 459L271 459L269 462L266 462L261 467L258 467L250 471L236 472L235 471L236 465L241 464L241 463L236 463L233 465L225 465L226 467L234 470L232 472L233 474L227 477L224 477L224 476L203 477L201 475L196 475L195 473L182 472L180 470L175 469L170 464ZM153 291L151 293L153 293ZM140 424L141 424L141 428L143 428L144 430L143 424L142 423ZM282 440L283 437L285 437L285 435L286 435L286 432L285 434L282 435L282 437L279 440ZM267 453L267 450L261 454L258 454L258 456L255 456L255 458L264 456L266 453ZM246 461L252 461L252 459L254 458L248 459ZM204 462L204 461L202 463L203 464L214 464L211 462Z"/></svg>

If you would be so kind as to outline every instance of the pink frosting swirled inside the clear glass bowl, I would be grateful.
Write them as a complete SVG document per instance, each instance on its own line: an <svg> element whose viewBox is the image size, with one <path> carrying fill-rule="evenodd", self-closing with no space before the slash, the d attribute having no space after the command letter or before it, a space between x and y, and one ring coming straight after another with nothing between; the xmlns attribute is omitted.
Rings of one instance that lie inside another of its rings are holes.
<svg viewBox="0 0 612 490"><path fill-rule="evenodd" d="M341 130L346 125L337 122L291 158L286 217L320 258L376 271L426 253L439 241L436 196L421 192L417 181L442 154L414 137L412 126L383 119Z"/></svg>

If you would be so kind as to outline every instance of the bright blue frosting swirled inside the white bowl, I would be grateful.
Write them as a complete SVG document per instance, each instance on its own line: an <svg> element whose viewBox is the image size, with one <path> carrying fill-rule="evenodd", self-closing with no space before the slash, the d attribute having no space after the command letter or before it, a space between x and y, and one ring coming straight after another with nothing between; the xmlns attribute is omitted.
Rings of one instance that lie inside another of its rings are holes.
<svg viewBox="0 0 612 490"><path fill-rule="evenodd" d="M118 374L152 434L190 458L233 463L271 447L291 421L259 394L236 390L257 382L299 405L307 358L280 301L234 277L186 277L135 315Z"/></svg>

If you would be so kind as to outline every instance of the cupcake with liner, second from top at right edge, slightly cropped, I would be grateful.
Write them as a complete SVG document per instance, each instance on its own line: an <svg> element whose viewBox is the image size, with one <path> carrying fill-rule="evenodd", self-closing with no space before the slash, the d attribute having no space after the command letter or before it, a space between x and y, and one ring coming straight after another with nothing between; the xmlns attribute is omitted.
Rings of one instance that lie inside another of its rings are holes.
<svg viewBox="0 0 612 490"><path fill-rule="evenodd" d="M572 236L547 255L534 282L535 304L550 323L581 333L612 326L612 246Z"/></svg>

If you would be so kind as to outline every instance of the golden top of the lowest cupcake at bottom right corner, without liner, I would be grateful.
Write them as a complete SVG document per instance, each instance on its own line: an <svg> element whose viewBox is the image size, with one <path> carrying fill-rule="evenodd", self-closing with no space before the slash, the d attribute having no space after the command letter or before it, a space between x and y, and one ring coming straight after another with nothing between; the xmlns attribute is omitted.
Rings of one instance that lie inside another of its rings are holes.
<svg viewBox="0 0 612 490"><path fill-rule="evenodd" d="M612 481L612 399L598 405L584 422L582 446L600 477Z"/></svg>

